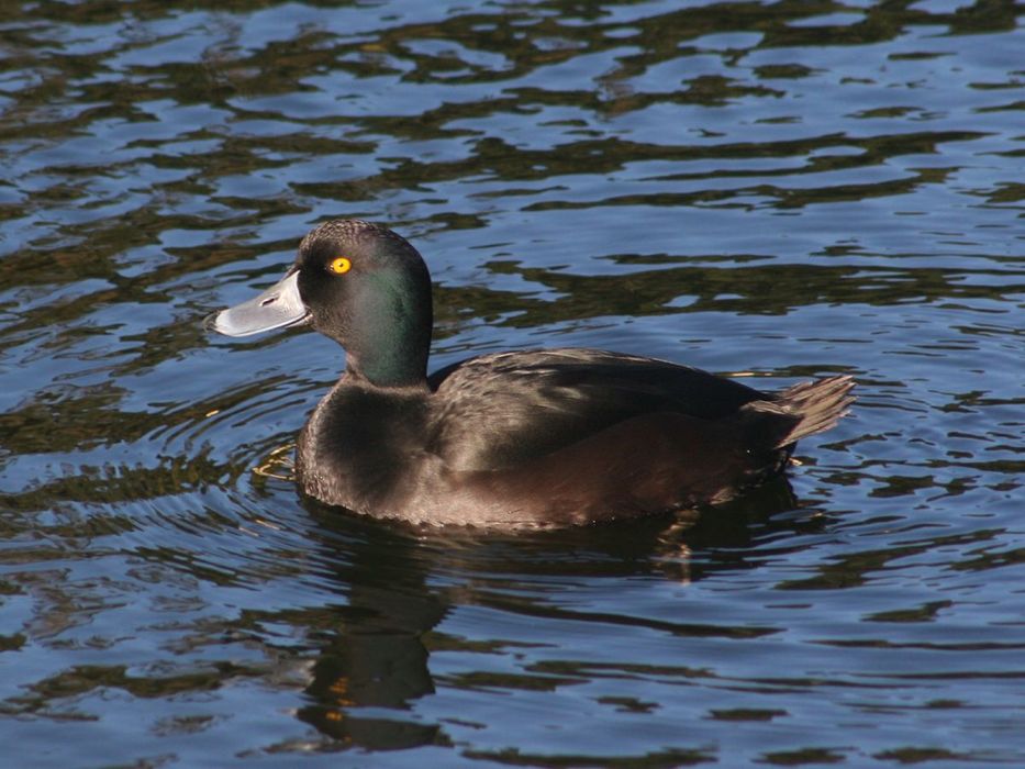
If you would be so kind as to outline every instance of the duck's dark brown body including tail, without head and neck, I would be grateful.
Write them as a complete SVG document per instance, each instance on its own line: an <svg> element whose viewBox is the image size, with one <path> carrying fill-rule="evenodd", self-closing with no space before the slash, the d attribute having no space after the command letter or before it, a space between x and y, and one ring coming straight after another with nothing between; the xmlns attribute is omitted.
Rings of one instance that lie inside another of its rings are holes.
<svg viewBox="0 0 1025 769"><path fill-rule="evenodd" d="M575 348L471 358L402 392L343 378L300 436L298 476L330 504L414 523L559 526L716 504L781 472L851 386L768 393Z"/></svg>

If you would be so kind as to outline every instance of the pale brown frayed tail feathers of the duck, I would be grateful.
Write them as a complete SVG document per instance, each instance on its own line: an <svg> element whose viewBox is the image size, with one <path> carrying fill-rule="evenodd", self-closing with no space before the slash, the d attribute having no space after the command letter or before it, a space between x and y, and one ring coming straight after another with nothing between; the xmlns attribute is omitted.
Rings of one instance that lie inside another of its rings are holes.
<svg viewBox="0 0 1025 769"><path fill-rule="evenodd" d="M776 393L772 400L753 401L745 409L789 417L782 423L783 430L773 431L775 447L782 448L835 427L857 400L850 393L854 387L855 381L849 376L800 382ZM782 426L778 420L770 422Z"/></svg>

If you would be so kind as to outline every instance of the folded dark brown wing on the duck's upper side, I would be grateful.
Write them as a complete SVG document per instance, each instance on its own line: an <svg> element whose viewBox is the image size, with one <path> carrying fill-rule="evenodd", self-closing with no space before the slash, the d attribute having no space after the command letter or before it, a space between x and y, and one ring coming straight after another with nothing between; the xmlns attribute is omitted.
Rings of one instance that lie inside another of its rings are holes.
<svg viewBox="0 0 1025 769"><path fill-rule="evenodd" d="M514 467L640 415L717 421L775 398L700 369L582 348L470 358L428 384L427 449L456 470Z"/></svg>

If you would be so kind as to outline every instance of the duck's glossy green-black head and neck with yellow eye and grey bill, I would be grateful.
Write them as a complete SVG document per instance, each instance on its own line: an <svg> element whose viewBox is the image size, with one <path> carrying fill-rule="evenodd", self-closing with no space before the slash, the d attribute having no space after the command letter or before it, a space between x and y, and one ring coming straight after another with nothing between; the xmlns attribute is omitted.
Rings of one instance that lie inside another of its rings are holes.
<svg viewBox="0 0 1025 769"><path fill-rule="evenodd" d="M296 264L263 293L212 315L227 336L310 325L347 353L346 376L379 387L423 384L432 328L431 276L390 230L334 220L299 244Z"/></svg>

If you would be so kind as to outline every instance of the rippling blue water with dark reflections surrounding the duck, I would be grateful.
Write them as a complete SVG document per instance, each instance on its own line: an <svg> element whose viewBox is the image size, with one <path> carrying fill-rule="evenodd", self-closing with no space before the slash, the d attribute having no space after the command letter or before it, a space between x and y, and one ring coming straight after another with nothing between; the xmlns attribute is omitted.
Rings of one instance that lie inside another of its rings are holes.
<svg viewBox="0 0 1025 769"><path fill-rule="evenodd" d="M0 9L4 766L1025 765L1021 8L230 8ZM435 367L860 401L698 515L317 509L341 352L201 319L335 215L426 256Z"/></svg>

